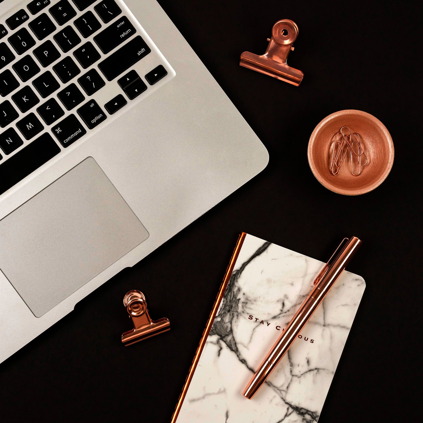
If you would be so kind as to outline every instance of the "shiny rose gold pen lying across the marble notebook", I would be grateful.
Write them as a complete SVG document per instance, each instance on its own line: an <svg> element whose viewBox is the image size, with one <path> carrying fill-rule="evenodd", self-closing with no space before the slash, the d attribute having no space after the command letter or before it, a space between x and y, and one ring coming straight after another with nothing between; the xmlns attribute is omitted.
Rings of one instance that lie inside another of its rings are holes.
<svg viewBox="0 0 423 423"><path fill-rule="evenodd" d="M253 378L250 380L250 383L245 388L243 395L246 398L253 398L254 394L261 388L261 385L266 382L266 379L275 369L277 363L280 362L289 347L297 339L299 332L301 332L310 317L313 316L313 313L319 307L330 288L332 288L333 284L338 280L338 277L341 276L341 273L360 244L360 239L355 236L342 240L335 253L333 253L332 257L314 281L314 287L310 294L308 294L308 297L288 323L282 335L280 335L269 354L267 354L266 358L263 360L263 363L261 363L260 367L255 372Z"/></svg>

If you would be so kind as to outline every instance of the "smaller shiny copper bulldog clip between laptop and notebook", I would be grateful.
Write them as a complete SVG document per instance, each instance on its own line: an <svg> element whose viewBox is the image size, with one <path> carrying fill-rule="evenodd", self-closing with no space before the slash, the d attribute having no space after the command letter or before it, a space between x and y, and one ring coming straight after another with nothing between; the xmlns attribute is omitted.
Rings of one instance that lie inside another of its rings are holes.
<svg viewBox="0 0 423 423"><path fill-rule="evenodd" d="M146 297L142 292L134 289L126 293L124 305L134 324L134 329L122 335L122 343L125 346L170 330L169 319L164 317L159 320L151 320L147 310Z"/></svg>

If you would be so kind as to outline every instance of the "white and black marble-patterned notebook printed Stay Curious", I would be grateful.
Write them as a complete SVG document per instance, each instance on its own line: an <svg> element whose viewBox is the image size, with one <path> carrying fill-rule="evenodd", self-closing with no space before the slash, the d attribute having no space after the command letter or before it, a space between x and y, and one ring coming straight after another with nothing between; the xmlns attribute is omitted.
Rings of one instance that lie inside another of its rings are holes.
<svg viewBox="0 0 423 423"><path fill-rule="evenodd" d="M254 398L242 392L323 266L255 236L240 236L172 422L319 419L365 289L353 273L342 273Z"/></svg>

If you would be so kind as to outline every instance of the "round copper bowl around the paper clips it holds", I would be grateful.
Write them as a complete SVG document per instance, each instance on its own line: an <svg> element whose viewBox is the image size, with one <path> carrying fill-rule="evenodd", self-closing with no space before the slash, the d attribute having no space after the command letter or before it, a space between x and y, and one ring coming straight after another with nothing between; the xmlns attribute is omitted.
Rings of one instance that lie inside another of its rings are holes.
<svg viewBox="0 0 423 423"><path fill-rule="evenodd" d="M343 126L360 134L367 162L359 175L352 173L349 154L336 176L330 170L335 137ZM360 110L341 110L327 116L316 126L308 142L308 163L314 176L324 187L338 194L360 195L374 190L385 181L393 161L393 141L385 125Z"/></svg>

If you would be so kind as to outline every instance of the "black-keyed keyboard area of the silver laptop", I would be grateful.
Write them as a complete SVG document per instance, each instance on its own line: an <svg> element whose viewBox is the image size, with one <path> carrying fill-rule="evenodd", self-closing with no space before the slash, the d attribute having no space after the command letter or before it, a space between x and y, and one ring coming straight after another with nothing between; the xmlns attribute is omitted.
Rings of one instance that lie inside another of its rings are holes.
<svg viewBox="0 0 423 423"><path fill-rule="evenodd" d="M34 0L0 18L0 194L174 76L144 34L119 0Z"/></svg>

